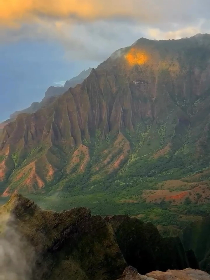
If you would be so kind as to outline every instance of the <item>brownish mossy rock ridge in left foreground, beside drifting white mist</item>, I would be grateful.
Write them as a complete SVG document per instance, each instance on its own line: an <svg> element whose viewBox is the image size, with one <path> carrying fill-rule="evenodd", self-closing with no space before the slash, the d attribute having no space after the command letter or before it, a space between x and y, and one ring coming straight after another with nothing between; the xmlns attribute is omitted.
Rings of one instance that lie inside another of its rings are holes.
<svg viewBox="0 0 210 280"><path fill-rule="evenodd" d="M125 269L111 227L86 208L42 211L14 195L0 211L1 217L6 213L13 217L8 230L15 228L34 248L33 279L108 280L117 279Z"/></svg>

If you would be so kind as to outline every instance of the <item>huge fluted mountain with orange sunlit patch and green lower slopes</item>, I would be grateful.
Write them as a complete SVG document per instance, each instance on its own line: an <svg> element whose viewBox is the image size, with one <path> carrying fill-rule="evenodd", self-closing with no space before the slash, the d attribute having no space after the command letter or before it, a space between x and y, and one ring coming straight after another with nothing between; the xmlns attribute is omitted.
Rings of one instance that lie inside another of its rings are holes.
<svg viewBox="0 0 210 280"><path fill-rule="evenodd" d="M209 34L116 51L82 84L4 126L1 193L58 192L136 215L135 205L208 203L209 69Z"/></svg>

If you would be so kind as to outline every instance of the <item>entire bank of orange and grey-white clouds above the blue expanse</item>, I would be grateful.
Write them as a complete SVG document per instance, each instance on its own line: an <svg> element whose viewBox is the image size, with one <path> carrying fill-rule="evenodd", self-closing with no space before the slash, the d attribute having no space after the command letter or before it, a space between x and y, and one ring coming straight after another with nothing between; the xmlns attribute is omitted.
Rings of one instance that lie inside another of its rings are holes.
<svg viewBox="0 0 210 280"><path fill-rule="evenodd" d="M101 62L137 39L209 31L208 0L0 0L1 42L62 43L65 59Z"/></svg>

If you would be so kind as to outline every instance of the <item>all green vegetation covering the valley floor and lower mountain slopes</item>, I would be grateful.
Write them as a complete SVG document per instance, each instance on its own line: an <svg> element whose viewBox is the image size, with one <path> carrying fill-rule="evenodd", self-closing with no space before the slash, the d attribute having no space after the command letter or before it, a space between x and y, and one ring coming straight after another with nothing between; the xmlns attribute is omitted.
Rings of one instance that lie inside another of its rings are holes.
<svg viewBox="0 0 210 280"><path fill-rule="evenodd" d="M119 170L113 170L111 173L103 168L93 170L95 164L106 159L104 150L107 150L107 154L111 153L110 162L122 154L121 148L113 150L116 135L107 135L101 140L101 132L97 130L91 141L83 141L83 144L89 148L91 158L83 173L78 173L80 163L84 159L84 154L80 154L78 155L79 162L74 165L70 174L67 175L65 169L62 169L55 174L52 182L46 182L45 194L41 194L42 189L37 190L36 195L28 195L27 188L20 192L48 210L62 211L85 206L90 208L94 215L128 214L137 216L145 222L151 221L155 225L164 226L183 227L189 221L180 219L182 215L207 216L210 213L210 204L193 204L190 199L186 199L183 204L177 206L164 200L159 204L155 201L146 203L142 196L146 189L159 189L158 184L165 180L178 180L197 173L203 174L199 180L210 180L210 174L204 173L209 166L209 156L198 159L192 156L193 149L190 147L193 139L191 139L189 129L184 133L181 130L179 134L175 134L172 140L173 148L166 155L160 155L157 158L154 158L153 154L166 145L169 141L167 137L171 137L171 131L166 123L160 122L160 125L156 127L137 124L136 133L128 130L123 133L127 139L129 138L132 151ZM178 140L183 143L182 146L177 144ZM146 154L144 147L148 146L148 141L153 152ZM156 149L157 143L160 145L158 149ZM25 166L31 157L38 159L44 152L46 152L44 147L32 150L22 166ZM74 150L71 153L73 152ZM59 147L50 148L50 153L56 154L57 157L62 158L63 162L65 161L65 154ZM39 171L38 168L37 171ZM42 172L41 166L39 172L40 174ZM26 177L27 174L24 174L21 181ZM12 182L12 189L17 188L21 181ZM185 189L183 185L176 190ZM201 194L196 196L199 199Z"/></svg>

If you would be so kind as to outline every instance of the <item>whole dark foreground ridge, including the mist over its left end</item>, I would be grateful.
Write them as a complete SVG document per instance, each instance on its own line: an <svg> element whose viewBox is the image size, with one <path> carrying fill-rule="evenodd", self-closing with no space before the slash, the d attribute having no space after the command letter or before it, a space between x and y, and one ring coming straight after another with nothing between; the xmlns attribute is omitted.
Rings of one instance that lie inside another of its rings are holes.
<svg viewBox="0 0 210 280"><path fill-rule="evenodd" d="M3 279L115 280L134 264L141 274L194 268L180 239L161 237L151 223L105 220L83 207L43 211L21 195L0 207L0 244Z"/></svg>

